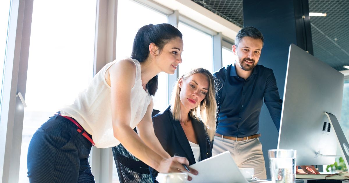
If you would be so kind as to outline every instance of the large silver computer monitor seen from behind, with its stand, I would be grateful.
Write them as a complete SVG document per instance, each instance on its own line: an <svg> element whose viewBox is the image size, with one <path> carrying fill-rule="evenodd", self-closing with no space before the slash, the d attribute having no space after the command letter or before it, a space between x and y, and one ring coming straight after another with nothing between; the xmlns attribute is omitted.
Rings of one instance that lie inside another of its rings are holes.
<svg viewBox="0 0 349 183"><path fill-rule="evenodd" d="M296 149L297 165L333 164L340 142L349 167L348 142L338 122L343 85L341 72L290 45L277 148Z"/></svg>

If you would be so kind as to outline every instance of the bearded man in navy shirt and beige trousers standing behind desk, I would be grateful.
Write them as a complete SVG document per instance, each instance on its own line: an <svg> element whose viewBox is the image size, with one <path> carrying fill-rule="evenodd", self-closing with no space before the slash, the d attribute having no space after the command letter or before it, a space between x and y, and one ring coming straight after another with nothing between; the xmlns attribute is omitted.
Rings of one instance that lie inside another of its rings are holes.
<svg viewBox="0 0 349 183"><path fill-rule="evenodd" d="M214 73L219 113L212 150L213 156L229 150L239 168L254 168L260 179L267 178L257 134L263 100L278 131L282 106L273 70L257 64L263 41L257 28L241 29L232 46L235 63Z"/></svg>

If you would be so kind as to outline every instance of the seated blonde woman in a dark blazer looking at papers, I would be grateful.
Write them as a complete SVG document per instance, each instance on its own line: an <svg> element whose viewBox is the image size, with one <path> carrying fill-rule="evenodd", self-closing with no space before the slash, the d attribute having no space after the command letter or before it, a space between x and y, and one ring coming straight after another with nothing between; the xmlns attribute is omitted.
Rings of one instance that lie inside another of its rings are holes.
<svg viewBox="0 0 349 183"><path fill-rule="evenodd" d="M177 80L171 105L153 117L155 135L170 156L186 157L190 165L205 160L212 155L216 112L212 74L193 69ZM154 181L158 172L150 172Z"/></svg>

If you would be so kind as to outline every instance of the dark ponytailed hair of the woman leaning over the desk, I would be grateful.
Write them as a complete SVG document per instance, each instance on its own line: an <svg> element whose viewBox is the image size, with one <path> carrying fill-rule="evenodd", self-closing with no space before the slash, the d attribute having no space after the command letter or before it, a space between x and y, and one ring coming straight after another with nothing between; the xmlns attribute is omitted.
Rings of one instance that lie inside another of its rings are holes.
<svg viewBox="0 0 349 183"><path fill-rule="evenodd" d="M171 24L149 24L141 27L133 41L131 58L144 62L149 56L149 44L154 43L161 53L165 44L175 38L182 38L182 33ZM155 95L157 91L157 75L148 82L148 92Z"/></svg>

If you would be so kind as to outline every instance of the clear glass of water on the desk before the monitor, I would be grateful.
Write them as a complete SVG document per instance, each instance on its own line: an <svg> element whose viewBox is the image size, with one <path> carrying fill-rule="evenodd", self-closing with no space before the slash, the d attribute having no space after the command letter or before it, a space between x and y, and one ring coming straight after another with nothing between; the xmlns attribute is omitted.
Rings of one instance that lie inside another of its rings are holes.
<svg viewBox="0 0 349 183"><path fill-rule="evenodd" d="M273 183L296 182L296 150L268 150L270 175Z"/></svg>

